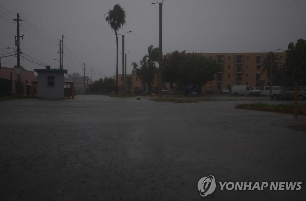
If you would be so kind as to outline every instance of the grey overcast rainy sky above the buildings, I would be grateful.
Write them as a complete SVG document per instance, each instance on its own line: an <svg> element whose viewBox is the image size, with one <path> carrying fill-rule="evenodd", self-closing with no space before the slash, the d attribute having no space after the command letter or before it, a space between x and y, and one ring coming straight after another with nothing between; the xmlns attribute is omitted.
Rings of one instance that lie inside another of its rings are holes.
<svg viewBox="0 0 306 201"><path fill-rule="evenodd" d="M126 12L127 73L149 45L159 45L159 6L156 0L1 0L0 55L13 52L19 13L24 57L59 68L59 40L64 35L64 69L93 80L116 73L116 38L105 13L119 3ZM160 1L161 2L161 1ZM164 0L162 52L262 52L287 49L290 42L306 39L305 0ZM119 74L122 74L122 38ZM2 58L2 66L17 65L17 58ZM45 68L21 58L26 70Z"/></svg>

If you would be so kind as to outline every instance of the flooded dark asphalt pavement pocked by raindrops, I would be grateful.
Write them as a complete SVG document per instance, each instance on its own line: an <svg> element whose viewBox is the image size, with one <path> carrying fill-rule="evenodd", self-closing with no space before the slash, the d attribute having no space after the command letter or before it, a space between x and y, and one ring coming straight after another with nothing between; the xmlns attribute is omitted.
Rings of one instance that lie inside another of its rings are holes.
<svg viewBox="0 0 306 201"><path fill-rule="evenodd" d="M305 115L234 108L274 103L255 97L147 99L0 102L0 200L306 200ZM209 175L217 187L202 197ZM220 190L230 181L302 185Z"/></svg>

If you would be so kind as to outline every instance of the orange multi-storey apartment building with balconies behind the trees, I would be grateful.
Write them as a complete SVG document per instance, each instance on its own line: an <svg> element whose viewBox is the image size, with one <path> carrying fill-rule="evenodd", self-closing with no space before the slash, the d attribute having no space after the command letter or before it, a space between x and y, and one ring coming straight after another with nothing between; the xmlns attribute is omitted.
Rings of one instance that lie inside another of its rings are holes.
<svg viewBox="0 0 306 201"><path fill-rule="evenodd" d="M222 88L232 89L235 85L251 85L259 88L257 81L262 79L265 85L269 85L267 71L260 75L264 59L267 52L244 52L244 53L201 53L203 56L215 59L219 64L222 64L224 70L215 74L215 80L208 82L202 87L202 94L205 94L206 88L213 88L214 92L222 91ZM278 62L282 67L285 63L285 52L274 52L278 55ZM172 53L166 53L165 58L169 58ZM273 69L272 69L273 74ZM155 76L152 87L158 87L158 75ZM118 86L122 86L122 74L118 74ZM163 87L168 88L169 92L173 92L175 84L164 83ZM148 87L143 85L140 78L135 75L127 74L126 88L133 92L135 89L143 89L146 91Z"/></svg>

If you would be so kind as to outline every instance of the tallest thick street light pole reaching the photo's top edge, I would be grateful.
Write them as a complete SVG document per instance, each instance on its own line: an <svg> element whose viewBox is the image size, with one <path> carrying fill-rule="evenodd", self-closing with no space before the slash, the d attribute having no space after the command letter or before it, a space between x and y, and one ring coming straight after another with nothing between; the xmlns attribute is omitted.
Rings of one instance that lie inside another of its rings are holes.
<svg viewBox="0 0 306 201"><path fill-rule="evenodd" d="M163 2L164 0L162 0ZM162 99L162 2L159 4L159 59L158 59L158 76L159 76L159 99ZM152 3L156 4L156 3Z"/></svg>

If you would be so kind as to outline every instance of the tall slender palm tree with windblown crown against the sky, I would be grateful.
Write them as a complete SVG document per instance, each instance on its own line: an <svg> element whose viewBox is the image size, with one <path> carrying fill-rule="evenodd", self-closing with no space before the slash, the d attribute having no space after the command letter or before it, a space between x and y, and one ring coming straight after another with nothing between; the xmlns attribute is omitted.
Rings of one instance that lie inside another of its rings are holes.
<svg viewBox="0 0 306 201"><path fill-rule="evenodd" d="M125 24L125 11L119 4L114 5L114 9L105 14L105 20L111 29L115 31L117 45L117 61L116 61L116 88L115 93L118 94L118 34L119 28ZM104 15L104 16L105 16Z"/></svg>

